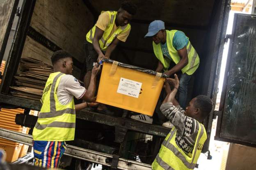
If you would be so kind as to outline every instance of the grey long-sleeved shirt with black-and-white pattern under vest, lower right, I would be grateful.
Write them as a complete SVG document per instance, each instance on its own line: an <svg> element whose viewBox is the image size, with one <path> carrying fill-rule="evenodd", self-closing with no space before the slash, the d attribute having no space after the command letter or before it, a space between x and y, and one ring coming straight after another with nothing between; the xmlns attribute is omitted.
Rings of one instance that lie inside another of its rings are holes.
<svg viewBox="0 0 256 170"><path fill-rule="evenodd" d="M177 129L176 144L185 153L191 153L199 129L198 121L185 116L185 111L182 108L175 107L171 102L163 103L160 110Z"/></svg>

